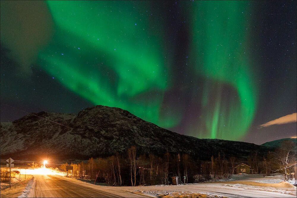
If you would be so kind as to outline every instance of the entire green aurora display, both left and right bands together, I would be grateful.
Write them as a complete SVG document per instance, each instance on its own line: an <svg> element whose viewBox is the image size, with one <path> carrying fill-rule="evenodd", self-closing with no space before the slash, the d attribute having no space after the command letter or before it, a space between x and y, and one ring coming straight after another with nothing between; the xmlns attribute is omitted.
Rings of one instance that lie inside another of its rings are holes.
<svg viewBox="0 0 297 198"><path fill-rule="evenodd" d="M173 53L165 53L162 22L141 15L154 10L149 1L47 4L56 31L38 57L48 74L95 105L119 107L164 128L180 124L179 107L164 108L164 95L174 89ZM184 6L191 10L191 66L205 83L201 116L185 134L239 140L257 107L257 75L247 44L249 1L193 5ZM227 96L226 89L234 91Z"/></svg>

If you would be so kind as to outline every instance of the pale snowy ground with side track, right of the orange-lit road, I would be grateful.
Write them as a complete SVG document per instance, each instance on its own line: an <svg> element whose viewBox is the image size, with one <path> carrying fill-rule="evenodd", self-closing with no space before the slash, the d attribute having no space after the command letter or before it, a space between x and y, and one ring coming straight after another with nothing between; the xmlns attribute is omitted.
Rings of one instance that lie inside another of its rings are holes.
<svg viewBox="0 0 297 198"><path fill-rule="evenodd" d="M282 174L273 174L269 177L241 174L232 175L227 181L178 186L97 187L89 185L110 191L122 189L151 197L296 197L296 187L284 182L283 176Z"/></svg>

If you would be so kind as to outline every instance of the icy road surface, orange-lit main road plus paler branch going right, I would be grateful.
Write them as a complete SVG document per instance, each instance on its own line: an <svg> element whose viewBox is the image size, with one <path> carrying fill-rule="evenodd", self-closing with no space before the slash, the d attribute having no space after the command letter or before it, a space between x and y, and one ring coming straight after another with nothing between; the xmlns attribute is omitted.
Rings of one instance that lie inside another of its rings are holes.
<svg viewBox="0 0 297 198"><path fill-rule="evenodd" d="M147 192L199 192L227 197L296 197L296 189L291 194L250 188L223 186L226 183L199 183L178 186L97 186L73 178L57 175L34 175L34 191L29 197L147 197ZM132 192L134 191L134 192ZM136 192L135 192L136 191ZM138 191L138 192L137 192ZM138 194L135 194L138 193ZM163 193L161 193L163 194ZM156 197L157 195L154 194ZM150 196L151 197L151 196Z"/></svg>

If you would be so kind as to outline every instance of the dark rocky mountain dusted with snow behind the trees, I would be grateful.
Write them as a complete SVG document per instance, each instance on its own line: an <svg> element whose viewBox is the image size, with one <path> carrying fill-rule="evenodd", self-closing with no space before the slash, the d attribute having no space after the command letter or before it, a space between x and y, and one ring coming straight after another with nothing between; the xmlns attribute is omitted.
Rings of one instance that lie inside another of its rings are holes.
<svg viewBox="0 0 297 198"><path fill-rule="evenodd" d="M126 110L94 106L75 114L40 112L42 118L26 115L13 122L1 123L1 159L55 156L59 159L87 159L126 153L136 145L138 153L188 153L209 159L219 152L226 156L247 157L267 148L252 143L198 139L181 135L146 122Z"/></svg>

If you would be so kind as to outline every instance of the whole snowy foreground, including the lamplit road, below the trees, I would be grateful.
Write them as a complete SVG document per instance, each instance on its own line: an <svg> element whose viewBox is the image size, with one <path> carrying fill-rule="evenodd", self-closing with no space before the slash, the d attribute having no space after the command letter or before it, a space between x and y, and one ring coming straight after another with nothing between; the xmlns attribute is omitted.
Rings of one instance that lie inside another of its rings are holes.
<svg viewBox="0 0 297 198"><path fill-rule="evenodd" d="M296 187L284 182L282 174L241 174L215 183L135 187L98 186L59 175L38 170L26 187L1 190L1 197L296 197Z"/></svg>

